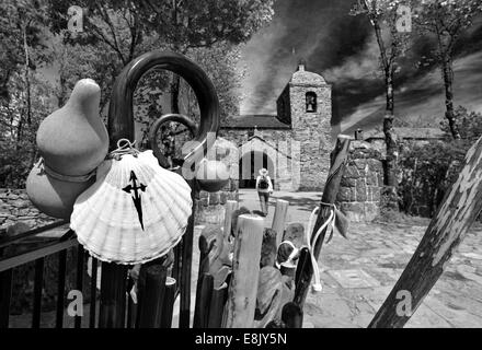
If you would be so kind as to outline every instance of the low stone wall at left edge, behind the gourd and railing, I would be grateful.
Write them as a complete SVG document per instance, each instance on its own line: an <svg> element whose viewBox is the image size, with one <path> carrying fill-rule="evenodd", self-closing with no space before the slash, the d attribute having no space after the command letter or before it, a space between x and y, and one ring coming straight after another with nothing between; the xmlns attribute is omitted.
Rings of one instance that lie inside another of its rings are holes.
<svg viewBox="0 0 482 350"><path fill-rule="evenodd" d="M31 229L58 221L39 212L24 189L0 188L0 231L22 222Z"/></svg>

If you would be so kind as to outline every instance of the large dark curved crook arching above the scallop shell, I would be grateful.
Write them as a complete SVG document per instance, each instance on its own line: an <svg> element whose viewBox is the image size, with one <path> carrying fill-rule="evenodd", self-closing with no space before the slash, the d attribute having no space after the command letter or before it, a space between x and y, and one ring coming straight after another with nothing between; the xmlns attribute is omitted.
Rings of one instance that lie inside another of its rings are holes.
<svg viewBox="0 0 482 350"><path fill-rule="evenodd" d="M111 150L117 140L134 141L134 91L140 78L152 68L170 70L181 75L193 89L200 110L200 124L194 138L193 149L184 156L184 168L191 168L207 152L211 144L207 135L219 130L219 101L216 90L206 73L192 60L172 51L151 51L127 65L117 77L108 107L107 130Z"/></svg>

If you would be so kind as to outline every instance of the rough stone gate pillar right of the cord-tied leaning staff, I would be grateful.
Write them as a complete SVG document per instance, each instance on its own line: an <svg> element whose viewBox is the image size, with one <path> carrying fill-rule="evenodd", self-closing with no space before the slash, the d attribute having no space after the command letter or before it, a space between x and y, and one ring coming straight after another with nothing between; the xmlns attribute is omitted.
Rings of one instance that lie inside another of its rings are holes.
<svg viewBox="0 0 482 350"><path fill-rule="evenodd" d="M337 205L352 222L374 221L380 214L383 188L381 154L369 143L352 141Z"/></svg>

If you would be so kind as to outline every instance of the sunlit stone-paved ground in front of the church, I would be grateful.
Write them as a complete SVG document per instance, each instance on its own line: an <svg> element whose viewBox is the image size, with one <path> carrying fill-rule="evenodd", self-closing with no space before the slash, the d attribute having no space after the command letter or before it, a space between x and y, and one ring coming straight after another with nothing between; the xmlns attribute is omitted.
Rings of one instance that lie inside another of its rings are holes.
<svg viewBox="0 0 482 350"><path fill-rule="evenodd" d="M320 195L276 192L267 223L277 198L290 202L289 222L306 223ZM259 208L252 190L244 190L240 202ZM428 220L416 223L352 224L349 241L335 236L323 247L319 260L323 291L309 294L305 327L367 327L412 257ZM406 327L482 327L481 241L482 228L477 225Z"/></svg>

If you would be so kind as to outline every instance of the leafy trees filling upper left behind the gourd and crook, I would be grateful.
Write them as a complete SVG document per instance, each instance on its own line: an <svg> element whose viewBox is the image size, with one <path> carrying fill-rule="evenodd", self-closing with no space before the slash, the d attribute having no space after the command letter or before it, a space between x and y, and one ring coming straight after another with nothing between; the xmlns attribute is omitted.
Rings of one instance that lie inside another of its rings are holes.
<svg viewBox="0 0 482 350"><path fill-rule="evenodd" d="M79 0L83 32L72 34L67 25L71 4L60 0L0 3L0 40L5 48L0 52L1 187L24 185L37 159L39 122L65 104L78 80L91 78L100 84L101 115L106 117L115 78L131 59L149 50L174 49L196 60L217 88L222 116L237 114L236 89L242 73L237 68L238 45L273 16L273 0ZM37 67L55 71L53 86L35 72ZM136 121L145 136L164 113L161 104L170 93L170 79L167 72L153 70L136 90ZM179 100L184 113L198 118L197 102L186 84Z"/></svg>

